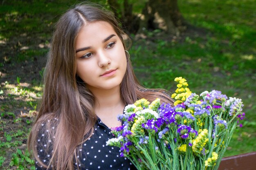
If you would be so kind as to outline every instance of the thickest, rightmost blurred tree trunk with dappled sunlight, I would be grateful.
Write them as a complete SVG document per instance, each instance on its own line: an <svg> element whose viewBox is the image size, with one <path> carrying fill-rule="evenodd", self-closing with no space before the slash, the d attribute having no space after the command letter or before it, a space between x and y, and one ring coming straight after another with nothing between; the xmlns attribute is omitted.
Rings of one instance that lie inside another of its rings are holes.
<svg viewBox="0 0 256 170"><path fill-rule="evenodd" d="M166 33L179 35L184 31L182 15L177 0L148 0L140 15L139 32L143 29L162 29Z"/></svg>

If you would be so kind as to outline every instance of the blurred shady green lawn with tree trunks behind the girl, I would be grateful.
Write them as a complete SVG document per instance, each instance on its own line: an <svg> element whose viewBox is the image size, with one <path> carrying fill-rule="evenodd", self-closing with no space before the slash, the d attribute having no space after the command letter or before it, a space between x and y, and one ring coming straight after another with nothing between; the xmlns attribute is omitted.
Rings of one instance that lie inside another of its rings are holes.
<svg viewBox="0 0 256 170"><path fill-rule="evenodd" d="M27 135L42 96L54 23L81 0L0 0L0 169L34 169ZM225 156L256 151L255 0L92 0L111 10L132 40L135 74L147 88L241 98L246 118Z"/></svg>

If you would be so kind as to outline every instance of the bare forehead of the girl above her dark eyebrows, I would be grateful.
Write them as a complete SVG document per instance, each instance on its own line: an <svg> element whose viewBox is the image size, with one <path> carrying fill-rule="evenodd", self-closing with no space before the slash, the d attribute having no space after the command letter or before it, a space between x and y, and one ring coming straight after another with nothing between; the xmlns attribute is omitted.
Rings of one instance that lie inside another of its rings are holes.
<svg viewBox="0 0 256 170"><path fill-rule="evenodd" d="M85 23L76 37L76 48L93 46L94 43L102 42L109 35L117 33L106 21Z"/></svg>

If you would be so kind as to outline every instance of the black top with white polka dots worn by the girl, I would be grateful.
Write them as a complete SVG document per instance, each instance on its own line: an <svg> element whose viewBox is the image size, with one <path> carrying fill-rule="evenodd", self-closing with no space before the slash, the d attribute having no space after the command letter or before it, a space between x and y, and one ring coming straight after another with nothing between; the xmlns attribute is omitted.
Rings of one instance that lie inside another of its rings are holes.
<svg viewBox="0 0 256 170"><path fill-rule="evenodd" d="M42 126L44 125L42 124ZM128 158L120 157L120 148L106 146L106 141L114 137L110 131L108 126L98 118L94 126L94 133L83 143L82 148L79 150L80 153L77 154L80 170L136 170ZM40 143L41 147L37 146L37 149L38 158L48 165L51 155L49 152L45 152L44 148L47 148L51 141L47 141L48 139L44 138L45 134L47 134L47 130L45 133L40 133L38 143ZM74 164L74 170L77 169L76 167L77 163ZM46 170L46 168L40 166L36 161L36 170Z"/></svg>

